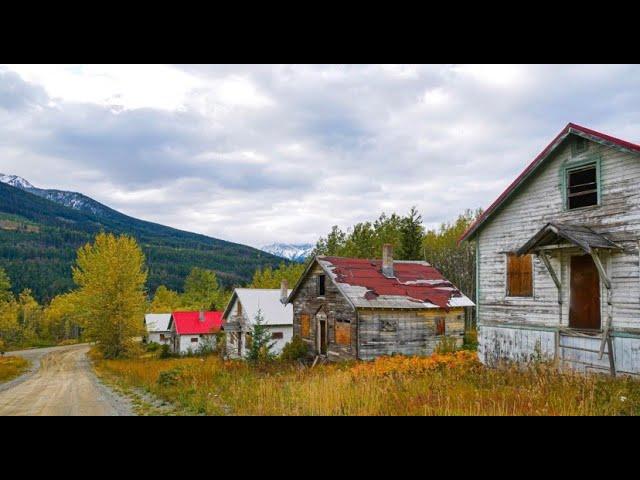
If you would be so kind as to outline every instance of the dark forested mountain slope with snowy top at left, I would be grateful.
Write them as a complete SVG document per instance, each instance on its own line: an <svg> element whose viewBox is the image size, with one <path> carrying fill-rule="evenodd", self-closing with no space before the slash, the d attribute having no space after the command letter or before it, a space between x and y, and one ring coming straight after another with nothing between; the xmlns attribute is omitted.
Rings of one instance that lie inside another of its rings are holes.
<svg viewBox="0 0 640 480"><path fill-rule="evenodd" d="M237 285L250 281L257 268L282 261L246 245L129 217L82 194L37 189L10 175L0 178L0 266L15 292L30 288L40 301L73 288L76 251L101 231L138 240L151 293L159 285L181 290L193 267L215 270L222 283Z"/></svg>

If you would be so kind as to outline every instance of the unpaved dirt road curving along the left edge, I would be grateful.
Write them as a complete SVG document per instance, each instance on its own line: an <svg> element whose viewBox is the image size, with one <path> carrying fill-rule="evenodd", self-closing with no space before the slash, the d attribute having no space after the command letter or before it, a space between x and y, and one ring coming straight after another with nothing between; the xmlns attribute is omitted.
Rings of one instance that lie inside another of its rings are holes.
<svg viewBox="0 0 640 480"><path fill-rule="evenodd" d="M129 402L102 385L91 369L88 345L11 352L34 371L0 385L0 415L132 415Z"/></svg>

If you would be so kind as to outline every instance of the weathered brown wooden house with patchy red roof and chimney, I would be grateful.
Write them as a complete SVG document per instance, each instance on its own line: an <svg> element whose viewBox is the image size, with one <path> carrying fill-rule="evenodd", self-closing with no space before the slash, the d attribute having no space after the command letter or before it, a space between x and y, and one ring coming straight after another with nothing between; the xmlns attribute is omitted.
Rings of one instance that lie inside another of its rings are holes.
<svg viewBox="0 0 640 480"><path fill-rule="evenodd" d="M427 262L318 256L288 299L293 334L329 360L429 355L445 337L461 344L473 306Z"/></svg>

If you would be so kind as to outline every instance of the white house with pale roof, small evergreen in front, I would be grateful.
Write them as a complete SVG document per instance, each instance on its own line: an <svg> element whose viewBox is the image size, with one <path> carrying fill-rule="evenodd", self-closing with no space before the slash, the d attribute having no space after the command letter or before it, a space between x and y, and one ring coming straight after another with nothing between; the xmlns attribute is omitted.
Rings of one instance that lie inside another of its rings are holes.
<svg viewBox="0 0 640 480"><path fill-rule="evenodd" d="M293 336L293 307L286 305L290 290L283 282L278 289L236 288L222 315L222 329L227 337L227 354L244 358L251 343L258 313L271 333L272 353L279 354Z"/></svg>

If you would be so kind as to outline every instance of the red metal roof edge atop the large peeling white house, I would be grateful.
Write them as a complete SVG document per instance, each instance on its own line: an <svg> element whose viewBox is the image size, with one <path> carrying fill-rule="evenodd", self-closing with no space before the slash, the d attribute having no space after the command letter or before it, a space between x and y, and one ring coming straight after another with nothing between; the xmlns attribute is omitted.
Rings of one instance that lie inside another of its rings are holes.
<svg viewBox="0 0 640 480"><path fill-rule="evenodd" d="M593 137L596 140L599 139L605 143L610 143L620 148L640 153L640 145L636 145L635 143L612 137L611 135L607 135L605 133L591 130L590 128L586 128L581 125L576 125L575 123L568 123L567 126L564 127L564 129L551 141L551 143L547 145L536 158L533 159L533 161L527 166L527 168L525 168L523 172L518 175L518 177L511 183L511 185L509 185L507 189L500 194L500 196L489 206L489 208L487 208L484 213L480 217L478 217L478 219L473 224L471 224L471 226L469 226L469 228L462 234L460 240L458 241L462 242L464 240L467 240L473 233L475 233L480 225L482 225L489 218L489 216L491 216L491 214L500 205L502 205L502 203L518 188L518 186L520 186L525 178L527 178L527 176L535 168L537 168L570 133L583 133L584 135Z"/></svg>

